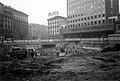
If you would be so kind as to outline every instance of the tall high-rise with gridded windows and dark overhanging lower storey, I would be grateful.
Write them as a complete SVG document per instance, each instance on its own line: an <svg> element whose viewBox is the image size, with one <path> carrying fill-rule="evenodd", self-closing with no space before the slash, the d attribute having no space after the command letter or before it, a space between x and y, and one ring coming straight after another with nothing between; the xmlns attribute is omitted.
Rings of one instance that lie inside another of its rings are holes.
<svg viewBox="0 0 120 81"><path fill-rule="evenodd" d="M65 38L106 37L114 33L109 18L118 13L119 0L67 0L67 28L62 34Z"/></svg>

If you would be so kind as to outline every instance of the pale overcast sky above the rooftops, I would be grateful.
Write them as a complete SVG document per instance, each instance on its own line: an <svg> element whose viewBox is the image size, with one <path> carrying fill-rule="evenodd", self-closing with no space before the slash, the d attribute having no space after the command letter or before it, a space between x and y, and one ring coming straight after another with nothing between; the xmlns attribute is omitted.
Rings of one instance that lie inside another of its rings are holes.
<svg viewBox="0 0 120 81"><path fill-rule="evenodd" d="M49 12L58 11L66 17L66 0L0 0L1 3L29 15L29 23L47 25Z"/></svg>

